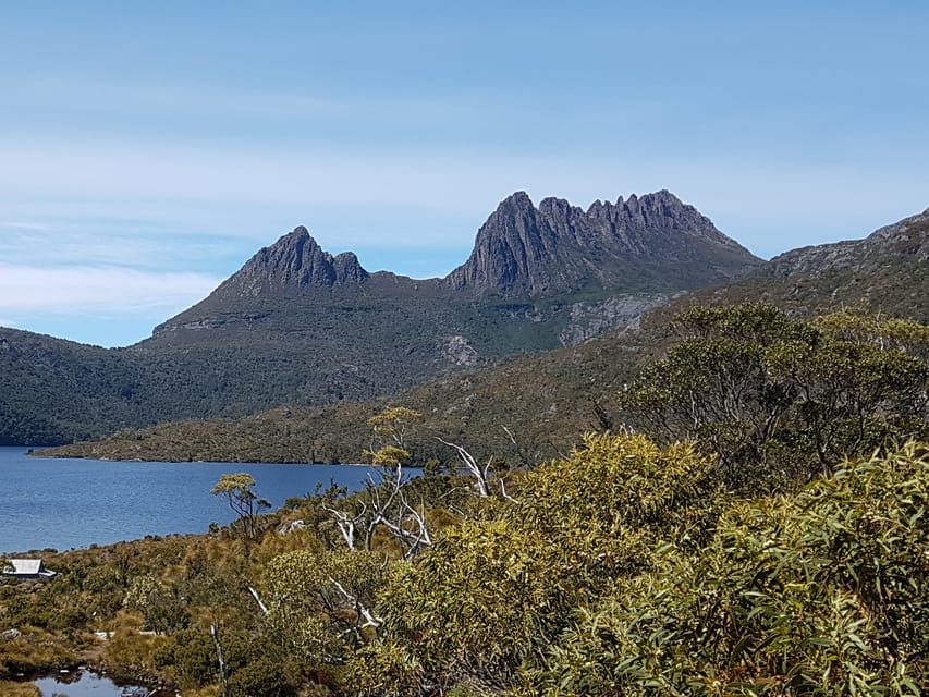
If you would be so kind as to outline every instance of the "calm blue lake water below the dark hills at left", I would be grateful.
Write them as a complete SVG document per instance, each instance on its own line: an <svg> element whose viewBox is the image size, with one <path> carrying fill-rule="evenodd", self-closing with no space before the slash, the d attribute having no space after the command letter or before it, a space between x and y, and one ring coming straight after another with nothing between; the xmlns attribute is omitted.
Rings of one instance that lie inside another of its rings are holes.
<svg viewBox="0 0 929 697"><path fill-rule="evenodd" d="M0 448L0 554L206 533L210 523L236 517L224 498L210 496L228 473L249 473L255 493L277 509L313 492L317 481L357 489L370 472L350 465L53 460L26 451Z"/></svg>

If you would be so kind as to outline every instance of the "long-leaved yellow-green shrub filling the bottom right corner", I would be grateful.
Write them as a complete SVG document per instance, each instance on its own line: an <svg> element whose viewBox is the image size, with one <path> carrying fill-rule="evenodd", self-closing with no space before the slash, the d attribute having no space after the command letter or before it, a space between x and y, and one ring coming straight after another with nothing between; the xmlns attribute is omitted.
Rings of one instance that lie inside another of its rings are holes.
<svg viewBox="0 0 929 697"><path fill-rule="evenodd" d="M699 554L584 610L526 694L917 695L929 680L929 450L734 505Z"/></svg>

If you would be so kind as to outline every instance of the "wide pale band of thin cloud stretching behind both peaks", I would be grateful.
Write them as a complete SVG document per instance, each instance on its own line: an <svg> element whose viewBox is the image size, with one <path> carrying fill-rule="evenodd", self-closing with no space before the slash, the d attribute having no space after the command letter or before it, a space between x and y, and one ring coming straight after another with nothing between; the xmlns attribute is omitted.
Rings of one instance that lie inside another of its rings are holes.
<svg viewBox="0 0 929 697"><path fill-rule="evenodd" d="M7 219L46 224L48 198L60 213L87 221L123 215L151 225L174 217L185 221L171 242L174 254L188 254L188 244L197 239L212 236L210 244L219 240L221 248L223 239L234 237L239 264L295 224L307 224L333 250L382 244L384 239L424 249L466 248L497 201L517 189L528 191L536 201L558 195L586 206L595 198L669 188L766 256L860 236L929 203L929 178L913 168L882 170L876 176L870 168L847 163L724 156L692 160L634 150L611 157L452 146L401 152L131 140L24 145L2 138L0 149L9 163L0 170L0 215ZM146 247L146 240L155 239L155 233L126 235L125 241L138 243L136 252L125 245L124 253L117 253L108 242L100 254L114 265L123 262L113 258L117 254L146 264L169 254ZM225 270L237 268L230 267Z"/></svg>

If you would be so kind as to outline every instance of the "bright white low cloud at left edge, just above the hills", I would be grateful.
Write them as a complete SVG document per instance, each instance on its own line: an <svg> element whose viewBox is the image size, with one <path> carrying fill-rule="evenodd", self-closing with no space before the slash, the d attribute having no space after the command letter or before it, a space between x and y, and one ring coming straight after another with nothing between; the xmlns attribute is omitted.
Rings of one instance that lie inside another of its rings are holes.
<svg viewBox="0 0 929 697"><path fill-rule="evenodd" d="M22 316L176 311L201 299L221 279L200 273L119 267L36 268L0 265L0 313Z"/></svg>

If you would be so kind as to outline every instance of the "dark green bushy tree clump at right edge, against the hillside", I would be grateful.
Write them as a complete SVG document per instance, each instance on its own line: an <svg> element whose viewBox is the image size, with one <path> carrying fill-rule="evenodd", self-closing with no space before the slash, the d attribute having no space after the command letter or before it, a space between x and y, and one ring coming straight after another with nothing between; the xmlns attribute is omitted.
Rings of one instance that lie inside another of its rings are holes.
<svg viewBox="0 0 929 697"><path fill-rule="evenodd" d="M694 307L683 341L645 368L621 401L637 426L696 439L736 480L828 473L844 456L927 428L929 328L843 313L791 319L772 305Z"/></svg>

